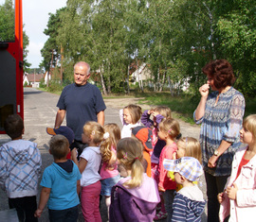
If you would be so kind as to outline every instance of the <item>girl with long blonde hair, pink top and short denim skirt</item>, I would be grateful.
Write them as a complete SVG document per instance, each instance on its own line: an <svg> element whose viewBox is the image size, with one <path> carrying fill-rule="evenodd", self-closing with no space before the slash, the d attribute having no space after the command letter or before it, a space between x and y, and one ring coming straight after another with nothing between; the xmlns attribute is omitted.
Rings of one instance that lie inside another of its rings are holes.
<svg viewBox="0 0 256 222"><path fill-rule="evenodd" d="M117 162L120 128L117 124L111 123L106 124L104 129L109 136L101 144L101 196L105 196L107 213L109 214L111 189L120 179Z"/></svg>

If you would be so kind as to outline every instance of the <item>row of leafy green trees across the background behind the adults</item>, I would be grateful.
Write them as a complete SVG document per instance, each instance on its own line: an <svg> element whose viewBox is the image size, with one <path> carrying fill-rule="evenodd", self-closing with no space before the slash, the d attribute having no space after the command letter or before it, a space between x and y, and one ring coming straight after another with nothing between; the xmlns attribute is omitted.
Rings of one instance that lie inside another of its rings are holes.
<svg viewBox="0 0 256 222"><path fill-rule="evenodd" d="M103 94L129 92L130 64L142 62L152 70L155 91L190 81L195 94L205 82L201 68L215 59L229 60L238 88L254 94L254 15L253 0L68 0L60 26L52 18L48 29L62 45L64 77L72 79L74 63L85 60Z"/></svg>

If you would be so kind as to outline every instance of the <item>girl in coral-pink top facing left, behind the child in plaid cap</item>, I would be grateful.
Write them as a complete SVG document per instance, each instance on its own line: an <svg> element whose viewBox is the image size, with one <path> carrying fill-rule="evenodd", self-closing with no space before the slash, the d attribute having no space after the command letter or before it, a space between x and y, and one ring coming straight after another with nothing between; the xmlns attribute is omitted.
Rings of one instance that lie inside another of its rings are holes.
<svg viewBox="0 0 256 222"><path fill-rule="evenodd" d="M167 170L163 167L164 159L173 159L177 150L175 138L180 133L179 123L171 118L165 119L159 124L158 137L166 142L159 157L159 183L158 190L163 193L161 202L161 211L155 215L155 219L165 218L167 213L167 221L171 221L174 201L174 191L176 183L167 176ZM164 206L163 206L164 205ZM165 207L165 209L164 209ZM166 213L164 212L166 211Z"/></svg>

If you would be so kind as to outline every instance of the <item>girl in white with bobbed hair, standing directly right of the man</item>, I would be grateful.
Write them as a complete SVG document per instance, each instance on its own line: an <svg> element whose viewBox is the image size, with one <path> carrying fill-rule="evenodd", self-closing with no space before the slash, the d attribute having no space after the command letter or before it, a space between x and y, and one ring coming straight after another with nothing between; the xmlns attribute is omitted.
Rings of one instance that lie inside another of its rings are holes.
<svg viewBox="0 0 256 222"><path fill-rule="evenodd" d="M132 128L141 126L141 123L139 121L141 114L141 107L135 104L130 104L119 110L119 117L123 126L123 128L121 129L121 138L131 137Z"/></svg>

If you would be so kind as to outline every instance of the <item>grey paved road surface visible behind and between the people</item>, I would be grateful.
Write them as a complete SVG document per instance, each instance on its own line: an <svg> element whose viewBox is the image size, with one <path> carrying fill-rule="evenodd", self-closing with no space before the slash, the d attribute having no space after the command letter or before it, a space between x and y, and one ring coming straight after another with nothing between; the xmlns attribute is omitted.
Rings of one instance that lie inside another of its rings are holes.
<svg viewBox="0 0 256 222"><path fill-rule="evenodd" d="M38 148L42 154L43 170L51 164L53 161L52 157L48 154L48 141L50 136L46 134L46 127L53 127L55 121L55 115L58 108L56 108L59 95L49 94L46 92L38 91L31 88L26 88L24 92L25 102L25 134L24 139L33 141L38 144ZM121 102L120 102L121 101ZM113 103L114 102L114 103ZM107 109L105 111L105 123L117 123L121 127L119 121L119 108L131 103L127 99L119 100L105 100ZM149 109L146 106L141 106L142 109ZM65 124L65 122L64 122ZM195 138L199 137L199 128L191 126L180 121L181 132L183 136L192 136ZM9 141L7 135L0 135L0 144ZM204 180L204 179L202 179ZM205 193L205 183L203 182L202 187ZM0 211L9 209L8 198L6 194L0 190ZM39 196L38 196L39 199ZM103 201L101 201L101 217L102 221L106 221L106 208ZM203 215L205 221L206 216ZM39 221L45 222L47 220L47 210L45 209L42 218ZM80 214L79 221L83 221L82 214ZM164 220L163 220L164 221Z"/></svg>

